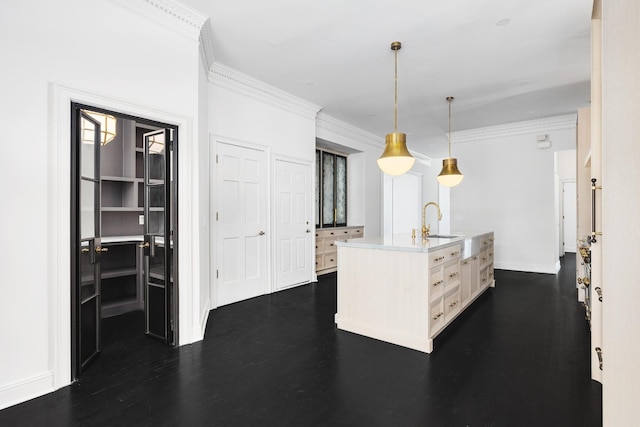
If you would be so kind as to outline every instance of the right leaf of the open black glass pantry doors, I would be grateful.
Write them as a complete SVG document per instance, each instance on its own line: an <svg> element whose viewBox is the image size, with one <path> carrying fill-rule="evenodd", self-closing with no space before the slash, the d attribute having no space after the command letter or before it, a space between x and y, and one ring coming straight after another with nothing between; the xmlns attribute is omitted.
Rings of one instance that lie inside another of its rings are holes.
<svg viewBox="0 0 640 427"><path fill-rule="evenodd" d="M144 134L145 332L173 342L171 130Z"/></svg>

